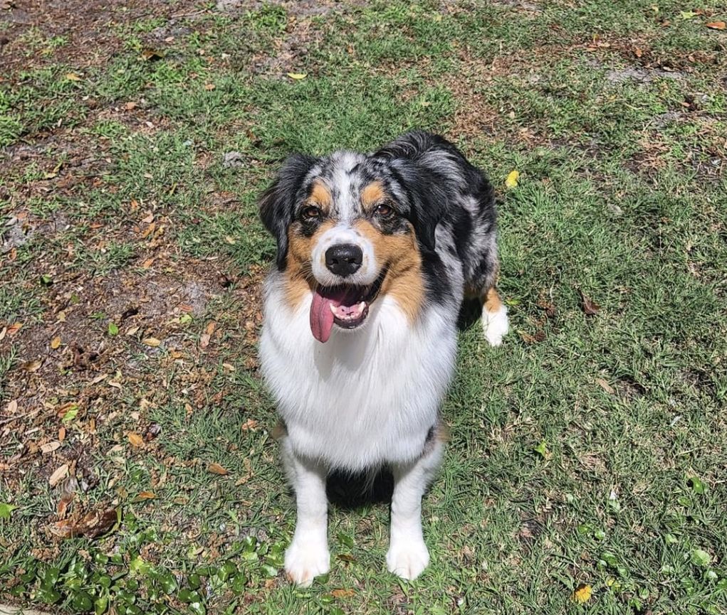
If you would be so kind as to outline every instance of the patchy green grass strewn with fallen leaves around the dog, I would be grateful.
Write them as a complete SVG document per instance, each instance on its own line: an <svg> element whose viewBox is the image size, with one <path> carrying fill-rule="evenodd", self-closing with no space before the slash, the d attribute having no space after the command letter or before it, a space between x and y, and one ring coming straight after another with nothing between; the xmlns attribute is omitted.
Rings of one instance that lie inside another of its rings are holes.
<svg viewBox="0 0 727 615"><path fill-rule="evenodd" d="M727 612L720 3L181 4L111 9L104 62L79 61L73 32L24 30L0 83L0 596L119 614ZM291 151L414 126L497 186L513 332L497 350L460 334L427 572L385 572L385 504L332 505L332 571L299 590L255 358L273 256L255 203ZM53 533L104 510L99 537Z"/></svg>

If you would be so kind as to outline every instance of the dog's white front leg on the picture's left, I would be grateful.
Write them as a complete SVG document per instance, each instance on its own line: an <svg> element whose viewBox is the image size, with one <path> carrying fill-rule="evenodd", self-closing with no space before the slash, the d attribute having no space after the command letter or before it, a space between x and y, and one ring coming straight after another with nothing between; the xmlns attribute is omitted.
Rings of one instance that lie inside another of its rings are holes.
<svg viewBox="0 0 727 615"><path fill-rule="evenodd" d="M283 449L298 509L295 534L285 552L285 571L292 582L308 587L315 577L326 574L331 566L326 468L297 457L287 441Z"/></svg>

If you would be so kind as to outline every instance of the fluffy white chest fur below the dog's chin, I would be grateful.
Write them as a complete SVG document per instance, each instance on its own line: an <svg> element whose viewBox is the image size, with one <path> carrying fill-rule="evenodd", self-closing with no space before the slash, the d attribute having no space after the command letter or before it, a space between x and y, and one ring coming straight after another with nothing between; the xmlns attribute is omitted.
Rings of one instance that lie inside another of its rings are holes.
<svg viewBox="0 0 727 615"><path fill-rule="evenodd" d="M309 308L290 311L268 282L262 372L295 452L351 471L420 455L454 369L451 317L429 307L412 325L384 296L361 330L320 343Z"/></svg>

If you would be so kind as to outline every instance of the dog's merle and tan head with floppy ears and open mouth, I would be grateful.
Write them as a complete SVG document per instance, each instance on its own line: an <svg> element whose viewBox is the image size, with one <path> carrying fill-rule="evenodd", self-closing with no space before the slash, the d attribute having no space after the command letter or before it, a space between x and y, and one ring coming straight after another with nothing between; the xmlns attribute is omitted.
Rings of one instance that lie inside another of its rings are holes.
<svg viewBox="0 0 727 615"><path fill-rule="evenodd" d="M293 307L311 295L310 328L356 330L387 293L414 319L424 301L422 256L435 247L442 187L406 158L293 155L262 195L276 264Z"/></svg>

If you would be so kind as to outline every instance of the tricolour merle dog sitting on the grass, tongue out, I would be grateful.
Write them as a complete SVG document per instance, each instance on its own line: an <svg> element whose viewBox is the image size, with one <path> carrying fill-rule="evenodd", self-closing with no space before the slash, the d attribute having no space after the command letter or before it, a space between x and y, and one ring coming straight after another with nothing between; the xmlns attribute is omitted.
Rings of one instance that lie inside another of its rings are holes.
<svg viewBox="0 0 727 615"><path fill-rule="evenodd" d="M387 467L387 567L414 579L465 296L481 298L492 346L508 330L494 191L453 144L412 131L369 154L292 155L260 216L277 243L260 365L297 500L286 573L305 587L329 571L326 476Z"/></svg>

